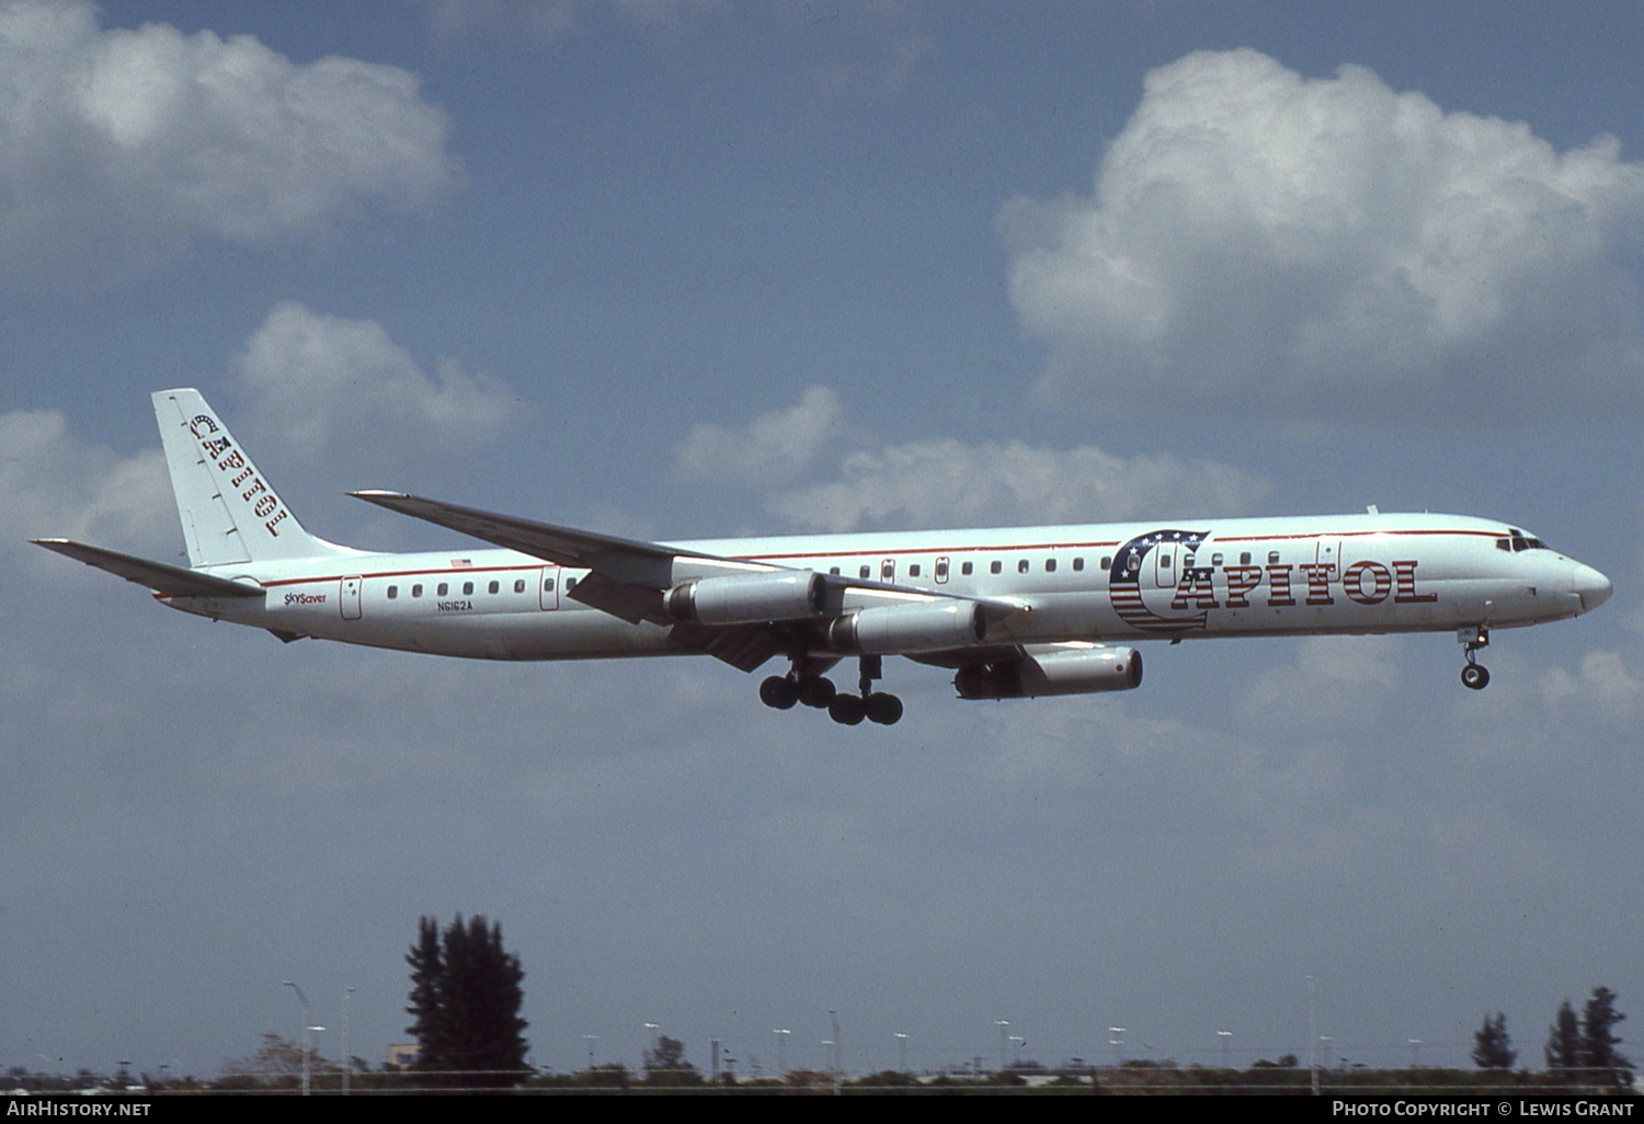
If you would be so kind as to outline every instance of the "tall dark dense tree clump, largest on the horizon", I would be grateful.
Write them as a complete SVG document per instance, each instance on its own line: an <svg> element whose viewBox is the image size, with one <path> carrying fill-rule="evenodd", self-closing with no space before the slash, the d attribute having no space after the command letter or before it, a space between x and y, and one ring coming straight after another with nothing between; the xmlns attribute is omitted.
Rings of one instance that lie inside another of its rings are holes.
<svg viewBox="0 0 1644 1124"><path fill-rule="evenodd" d="M450 1085L508 1088L526 1073L529 1025L520 1017L524 1001L520 958L503 950L501 925L462 914L441 933L432 917L418 922L418 938L406 953L411 996L406 1034L416 1035L424 1073L452 1073Z"/></svg>

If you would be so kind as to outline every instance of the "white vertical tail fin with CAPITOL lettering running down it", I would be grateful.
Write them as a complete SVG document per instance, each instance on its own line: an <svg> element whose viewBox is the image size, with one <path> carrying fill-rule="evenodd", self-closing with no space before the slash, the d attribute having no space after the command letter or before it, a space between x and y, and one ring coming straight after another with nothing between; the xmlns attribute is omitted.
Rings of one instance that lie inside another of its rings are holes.
<svg viewBox="0 0 1644 1124"><path fill-rule="evenodd" d="M352 554L302 529L197 389L153 399L191 565Z"/></svg>

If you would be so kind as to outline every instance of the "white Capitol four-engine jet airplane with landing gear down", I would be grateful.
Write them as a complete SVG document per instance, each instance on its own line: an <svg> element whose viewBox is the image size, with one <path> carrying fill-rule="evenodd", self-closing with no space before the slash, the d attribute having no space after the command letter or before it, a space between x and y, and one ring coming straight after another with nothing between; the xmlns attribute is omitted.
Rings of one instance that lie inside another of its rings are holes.
<svg viewBox="0 0 1644 1124"><path fill-rule="evenodd" d="M883 657L954 672L960 698L1141 685L1139 641L1455 631L1462 682L1496 628L1591 611L1609 578L1493 519L1448 514L638 542L398 491L350 493L492 544L380 554L309 534L196 389L153 394L189 567L69 539L48 550L184 613L472 659L707 654L768 707L891 725ZM858 693L827 674L855 657Z"/></svg>

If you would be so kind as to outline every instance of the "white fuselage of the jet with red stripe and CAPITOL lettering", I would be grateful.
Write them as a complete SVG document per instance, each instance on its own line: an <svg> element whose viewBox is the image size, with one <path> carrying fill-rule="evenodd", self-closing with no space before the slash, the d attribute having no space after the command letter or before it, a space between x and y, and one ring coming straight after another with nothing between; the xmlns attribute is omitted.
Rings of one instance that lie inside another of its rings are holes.
<svg viewBox="0 0 1644 1124"><path fill-rule="evenodd" d="M986 644L1514 628L1601 603L1598 570L1503 523L1445 514L1179 519L718 539L717 555L1011 606ZM482 659L677 654L664 624L567 597L587 575L500 549L207 567L263 598L174 608L350 644ZM689 574L681 575L689 577ZM873 605L871 588L845 608Z"/></svg>

